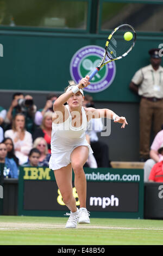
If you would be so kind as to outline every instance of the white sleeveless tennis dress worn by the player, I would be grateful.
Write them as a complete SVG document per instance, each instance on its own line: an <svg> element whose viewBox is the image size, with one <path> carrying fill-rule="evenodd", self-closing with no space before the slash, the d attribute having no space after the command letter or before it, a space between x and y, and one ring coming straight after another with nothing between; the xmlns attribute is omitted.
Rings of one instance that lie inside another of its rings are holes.
<svg viewBox="0 0 163 256"><path fill-rule="evenodd" d="M72 126L72 117L68 105L66 105L66 108L69 113L68 119L61 124L52 124L52 155L49 160L49 168L52 170L60 169L71 163L71 153L79 146L87 146L89 155L93 153L85 138L87 119L84 108L82 107L82 125L80 127Z"/></svg>

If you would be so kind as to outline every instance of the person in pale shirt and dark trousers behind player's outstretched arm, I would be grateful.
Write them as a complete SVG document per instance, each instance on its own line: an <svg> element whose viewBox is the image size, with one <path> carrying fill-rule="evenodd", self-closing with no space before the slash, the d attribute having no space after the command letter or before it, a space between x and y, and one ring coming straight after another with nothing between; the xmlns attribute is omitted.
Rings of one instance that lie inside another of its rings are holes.
<svg viewBox="0 0 163 256"><path fill-rule="evenodd" d="M92 96L85 95L84 107L95 107ZM111 167L109 160L109 148L108 145L102 141L99 141L97 136L98 132L103 130L103 123L101 118L91 119L89 121L86 135L89 135L90 145L93 150L93 156L95 156L98 167Z"/></svg>

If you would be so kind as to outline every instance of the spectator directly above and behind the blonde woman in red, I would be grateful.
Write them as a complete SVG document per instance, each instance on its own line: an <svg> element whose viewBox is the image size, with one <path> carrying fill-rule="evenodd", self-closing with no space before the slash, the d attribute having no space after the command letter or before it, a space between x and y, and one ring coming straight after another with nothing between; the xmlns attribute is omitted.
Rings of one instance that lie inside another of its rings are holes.
<svg viewBox="0 0 163 256"><path fill-rule="evenodd" d="M58 95L54 93L50 93L47 95L47 101L43 109L39 109L39 111L36 112L35 114L35 124L40 126L42 123L43 115L47 111L52 111L53 112L53 104L55 100L57 100Z"/></svg>

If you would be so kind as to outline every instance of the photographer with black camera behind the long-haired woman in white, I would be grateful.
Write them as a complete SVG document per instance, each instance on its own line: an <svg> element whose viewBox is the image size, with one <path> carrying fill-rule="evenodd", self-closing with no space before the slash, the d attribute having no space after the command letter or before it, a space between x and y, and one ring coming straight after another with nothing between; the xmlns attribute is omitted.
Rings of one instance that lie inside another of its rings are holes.
<svg viewBox="0 0 163 256"><path fill-rule="evenodd" d="M12 118L14 118L17 113L22 113L26 117L26 130L30 133L34 132L36 106L34 105L33 97L31 95L24 96L22 93L15 93L12 98L13 100L5 120L5 122L10 125L7 129L9 130L11 128Z"/></svg>

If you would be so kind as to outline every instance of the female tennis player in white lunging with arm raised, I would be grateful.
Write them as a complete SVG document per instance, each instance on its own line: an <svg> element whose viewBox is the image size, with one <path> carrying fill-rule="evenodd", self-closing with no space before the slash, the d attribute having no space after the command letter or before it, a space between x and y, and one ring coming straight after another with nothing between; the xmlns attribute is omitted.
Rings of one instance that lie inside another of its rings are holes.
<svg viewBox="0 0 163 256"><path fill-rule="evenodd" d="M70 81L65 93L60 95L53 105L52 155L49 168L54 170L62 200L70 210L70 214L66 214L70 217L65 228L76 228L77 223L90 223L90 214L86 209L86 177L83 170L87 157L93 153L85 138L87 122L91 118L106 117L121 123L122 128L127 124L125 117L118 117L109 109L82 106L84 101L82 88L89 86L89 78L89 76L82 78L78 85ZM72 193L72 168L80 209L76 207L76 199Z"/></svg>

